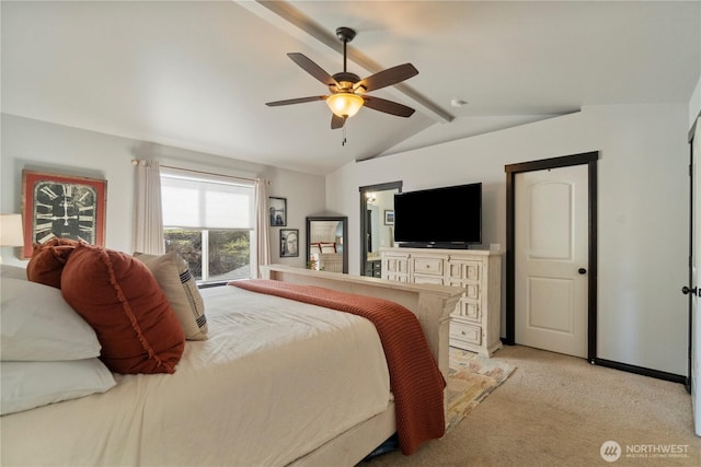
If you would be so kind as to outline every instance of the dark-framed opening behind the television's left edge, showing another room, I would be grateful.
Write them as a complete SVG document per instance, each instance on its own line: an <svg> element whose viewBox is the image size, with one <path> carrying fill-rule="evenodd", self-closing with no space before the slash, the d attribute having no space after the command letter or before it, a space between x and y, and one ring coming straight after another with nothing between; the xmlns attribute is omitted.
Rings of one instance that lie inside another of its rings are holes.
<svg viewBox="0 0 701 467"><path fill-rule="evenodd" d="M401 191L402 182L360 188L361 276L382 275L380 248L394 246L394 194Z"/></svg>

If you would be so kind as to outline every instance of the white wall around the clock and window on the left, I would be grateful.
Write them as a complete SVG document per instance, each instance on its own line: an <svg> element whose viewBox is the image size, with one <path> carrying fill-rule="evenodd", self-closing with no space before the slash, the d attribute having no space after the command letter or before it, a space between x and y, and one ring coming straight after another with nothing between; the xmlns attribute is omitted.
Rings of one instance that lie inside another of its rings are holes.
<svg viewBox="0 0 701 467"><path fill-rule="evenodd" d="M299 229L301 254L279 258L279 230L271 227L273 262L304 267L304 218L324 209L324 178L252 164L234 159L152 144L2 114L0 210L22 212L22 170L104 178L107 180L105 246L131 249L134 218L133 159L157 159L162 164L226 175L271 180L268 195L287 198L287 226ZM2 261L22 264L19 248L1 248Z"/></svg>

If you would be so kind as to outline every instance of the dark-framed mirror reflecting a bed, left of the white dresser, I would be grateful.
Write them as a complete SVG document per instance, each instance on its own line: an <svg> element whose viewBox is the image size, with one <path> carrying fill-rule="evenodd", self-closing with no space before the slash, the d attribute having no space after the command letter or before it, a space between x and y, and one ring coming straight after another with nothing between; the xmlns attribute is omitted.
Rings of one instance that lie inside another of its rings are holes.
<svg viewBox="0 0 701 467"><path fill-rule="evenodd" d="M330 272L348 272L348 218L307 218L307 267Z"/></svg>

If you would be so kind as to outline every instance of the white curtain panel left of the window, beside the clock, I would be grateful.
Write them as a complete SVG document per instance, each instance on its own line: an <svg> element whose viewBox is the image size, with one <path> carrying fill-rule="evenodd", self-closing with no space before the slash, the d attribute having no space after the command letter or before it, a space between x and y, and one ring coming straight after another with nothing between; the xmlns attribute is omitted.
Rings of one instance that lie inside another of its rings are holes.
<svg viewBox="0 0 701 467"><path fill-rule="evenodd" d="M134 252L163 255L161 171L158 161L131 161L136 166Z"/></svg>

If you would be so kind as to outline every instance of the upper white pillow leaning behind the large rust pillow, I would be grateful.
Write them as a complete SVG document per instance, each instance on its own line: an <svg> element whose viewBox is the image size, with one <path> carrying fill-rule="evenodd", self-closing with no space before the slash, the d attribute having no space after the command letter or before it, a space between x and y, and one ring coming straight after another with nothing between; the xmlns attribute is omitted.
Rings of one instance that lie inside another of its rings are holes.
<svg viewBox="0 0 701 467"><path fill-rule="evenodd" d="M4 277L0 285L2 361L81 360L100 355L97 335L66 303L60 290Z"/></svg>

